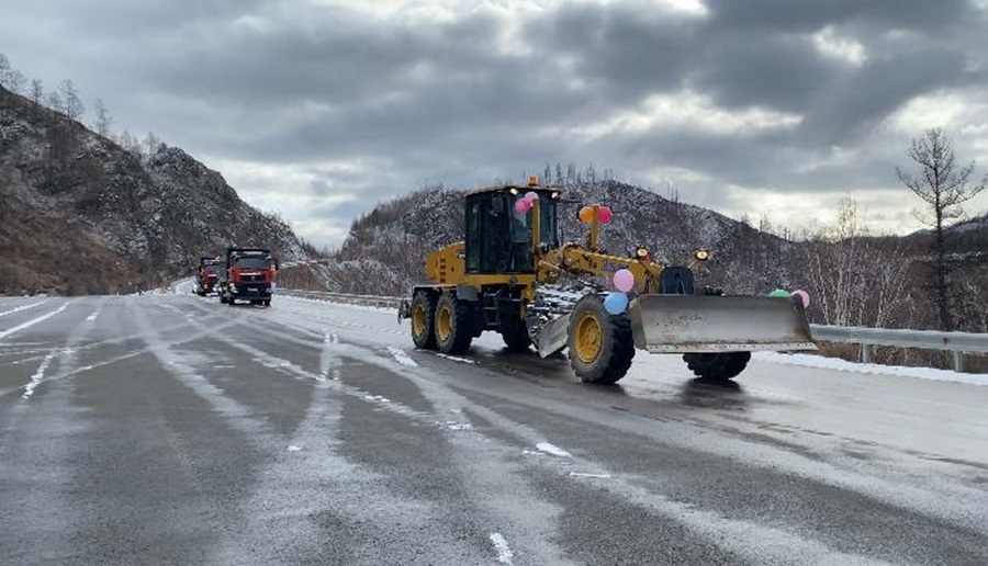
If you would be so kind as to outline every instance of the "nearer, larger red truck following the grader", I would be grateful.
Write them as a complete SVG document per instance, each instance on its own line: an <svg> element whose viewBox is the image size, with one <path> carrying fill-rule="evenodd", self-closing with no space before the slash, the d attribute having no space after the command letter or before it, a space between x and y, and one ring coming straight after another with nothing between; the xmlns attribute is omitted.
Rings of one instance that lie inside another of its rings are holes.
<svg viewBox="0 0 988 566"><path fill-rule="evenodd" d="M234 306L237 301L251 305L271 305L278 260L263 248L226 248L226 262L220 282L220 302Z"/></svg>

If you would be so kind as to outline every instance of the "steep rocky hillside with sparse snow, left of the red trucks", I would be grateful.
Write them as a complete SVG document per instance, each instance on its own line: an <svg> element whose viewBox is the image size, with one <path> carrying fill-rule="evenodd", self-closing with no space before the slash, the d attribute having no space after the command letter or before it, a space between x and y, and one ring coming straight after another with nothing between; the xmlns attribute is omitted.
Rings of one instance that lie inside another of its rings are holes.
<svg viewBox="0 0 988 566"><path fill-rule="evenodd" d="M312 252L181 149L135 155L2 88L0 203L0 294L153 286L232 244Z"/></svg>

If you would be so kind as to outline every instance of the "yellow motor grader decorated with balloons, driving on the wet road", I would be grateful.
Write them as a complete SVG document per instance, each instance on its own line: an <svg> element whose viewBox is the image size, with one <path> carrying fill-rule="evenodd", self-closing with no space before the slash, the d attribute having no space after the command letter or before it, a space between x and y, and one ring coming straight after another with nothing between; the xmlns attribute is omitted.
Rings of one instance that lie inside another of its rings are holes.
<svg viewBox="0 0 988 566"><path fill-rule="evenodd" d="M603 384L625 376L636 349L683 353L697 376L717 381L740 374L752 351L816 349L797 298L696 288L704 250L686 267L654 262L644 247L633 257L599 250L599 205L590 207L586 242L561 244L560 195L536 178L467 194L464 241L426 258L431 283L416 285L398 308L416 348L460 354L493 330L510 351L535 346L546 358L569 348L576 375ZM602 281L619 270L633 274L633 288L615 313ZM561 279L581 286L560 288Z"/></svg>

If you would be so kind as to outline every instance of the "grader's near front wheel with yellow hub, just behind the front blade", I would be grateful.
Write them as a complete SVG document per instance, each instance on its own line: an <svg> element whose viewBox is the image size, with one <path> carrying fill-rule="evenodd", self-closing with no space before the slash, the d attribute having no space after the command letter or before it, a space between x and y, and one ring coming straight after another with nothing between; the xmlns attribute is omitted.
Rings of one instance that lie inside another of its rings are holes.
<svg viewBox="0 0 988 566"><path fill-rule="evenodd" d="M628 373L635 340L628 315L611 315L597 295L585 295L570 315L570 365L584 382L610 385Z"/></svg>

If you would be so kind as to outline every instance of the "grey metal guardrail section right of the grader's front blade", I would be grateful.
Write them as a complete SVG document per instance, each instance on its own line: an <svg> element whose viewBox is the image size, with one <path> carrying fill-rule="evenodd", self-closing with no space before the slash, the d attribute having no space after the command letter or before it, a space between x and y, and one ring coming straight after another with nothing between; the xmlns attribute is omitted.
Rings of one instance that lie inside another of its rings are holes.
<svg viewBox="0 0 988 566"><path fill-rule="evenodd" d="M810 325L810 330L815 340L861 344L862 363L871 363L875 346L945 350L954 352L954 371L963 372L965 353L988 353L988 333L826 325Z"/></svg>

